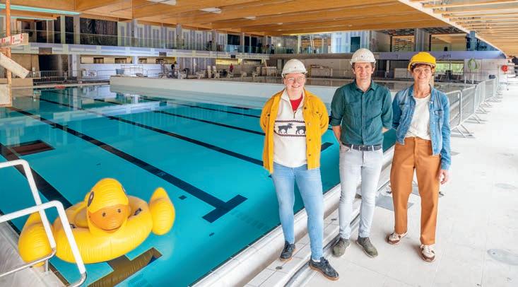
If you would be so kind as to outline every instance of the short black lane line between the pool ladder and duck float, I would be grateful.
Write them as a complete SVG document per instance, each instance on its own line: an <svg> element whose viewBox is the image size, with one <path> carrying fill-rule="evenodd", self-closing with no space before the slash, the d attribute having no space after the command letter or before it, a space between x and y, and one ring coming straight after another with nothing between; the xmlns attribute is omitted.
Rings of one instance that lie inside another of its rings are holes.
<svg viewBox="0 0 518 287"><path fill-rule="evenodd" d="M4 146L0 143L1 155L6 158L8 161L11 160L19 160L20 157L7 146ZM20 165L16 165L16 170L20 172L25 178L25 172L23 172L23 167ZM39 173L37 173L33 168L30 168L30 171L33 172L34 181L36 182L37 189L49 200L57 200L61 201L65 209L68 209L72 204L68 201L59 191L53 187L45 178L43 178Z"/></svg>

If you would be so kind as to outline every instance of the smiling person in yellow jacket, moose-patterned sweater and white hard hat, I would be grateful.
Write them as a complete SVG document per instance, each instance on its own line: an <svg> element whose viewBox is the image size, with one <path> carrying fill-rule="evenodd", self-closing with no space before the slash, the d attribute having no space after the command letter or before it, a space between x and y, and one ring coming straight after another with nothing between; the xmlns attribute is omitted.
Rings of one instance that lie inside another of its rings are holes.
<svg viewBox="0 0 518 287"><path fill-rule="evenodd" d="M331 280L339 274L322 256L324 197L320 177L320 146L329 116L322 100L304 89L306 69L297 59L283 68L281 92L273 95L261 112L264 137L263 164L271 172L279 203L279 217L285 243L281 260L288 261L295 251L293 227L294 187L298 189L307 211L312 269Z"/></svg>

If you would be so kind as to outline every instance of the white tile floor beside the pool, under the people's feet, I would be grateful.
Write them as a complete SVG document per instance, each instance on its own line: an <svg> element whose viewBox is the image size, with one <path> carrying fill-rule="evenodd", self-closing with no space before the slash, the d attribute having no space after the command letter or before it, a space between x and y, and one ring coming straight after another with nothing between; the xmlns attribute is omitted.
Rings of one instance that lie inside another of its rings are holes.
<svg viewBox="0 0 518 287"><path fill-rule="evenodd" d="M466 124L473 138L452 137L452 151L459 154L442 187L435 262L419 257L420 198L412 195L408 236L400 245L384 241L394 213L377 208L371 240L379 256L371 259L352 244L343 257L329 257L339 281L315 274L306 286L518 286L518 85L509 89L480 115L485 122ZM494 259L488 253L493 249L507 251L511 260Z"/></svg>

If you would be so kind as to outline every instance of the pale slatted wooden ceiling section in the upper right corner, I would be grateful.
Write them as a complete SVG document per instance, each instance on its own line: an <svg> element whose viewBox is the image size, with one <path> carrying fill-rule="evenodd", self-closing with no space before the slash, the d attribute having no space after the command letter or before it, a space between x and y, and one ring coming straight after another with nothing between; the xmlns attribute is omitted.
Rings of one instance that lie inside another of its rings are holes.
<svg viewBox="0 0 518 287"><path fill-rule="evenodd" d="M410 0L421 11L435 14L447 23L498 47L507 55L518 54L517 0Z"/></svg>

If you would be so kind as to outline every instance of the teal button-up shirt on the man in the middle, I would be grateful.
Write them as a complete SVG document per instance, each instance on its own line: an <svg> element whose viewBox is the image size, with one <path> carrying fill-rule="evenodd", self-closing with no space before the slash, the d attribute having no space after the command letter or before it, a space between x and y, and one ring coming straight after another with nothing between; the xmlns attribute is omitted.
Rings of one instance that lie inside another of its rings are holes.
<svg viewBox="0 0 518 287"><path fill-rule="evenodd" d="M343 144L383 144L382 127L392 128L392 98L389 89L371 81L363 93L356 81L336 90L331 102L331 126L341 125Z"/></svg>

